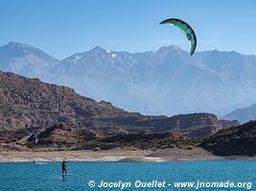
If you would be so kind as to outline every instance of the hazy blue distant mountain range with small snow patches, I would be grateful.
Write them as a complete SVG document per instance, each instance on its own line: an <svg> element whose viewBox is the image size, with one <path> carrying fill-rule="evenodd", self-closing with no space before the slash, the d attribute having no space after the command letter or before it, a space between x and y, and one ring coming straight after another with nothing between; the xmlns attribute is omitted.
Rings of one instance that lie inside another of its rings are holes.
<svg viewBox="0 0 256 191"><path fill-rule="evenodd" d="M175 46L127 53L101 47L63 60L32 46L0 48L0 70L73 88L147 115L224 115L256 102L256 56L206 51L190 56Z"/></svg>

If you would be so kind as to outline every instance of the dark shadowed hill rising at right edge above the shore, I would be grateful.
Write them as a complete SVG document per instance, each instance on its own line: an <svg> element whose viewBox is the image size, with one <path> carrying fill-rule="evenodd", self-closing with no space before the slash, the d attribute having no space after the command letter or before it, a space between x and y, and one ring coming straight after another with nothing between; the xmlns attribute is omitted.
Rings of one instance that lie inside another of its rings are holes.
<svg viewBox="0 0 256 191"><path fill-rule="evenodd" d="M217 134L204 138L200 146L219 156L255 156L256 121L222 129Z"/></svg>

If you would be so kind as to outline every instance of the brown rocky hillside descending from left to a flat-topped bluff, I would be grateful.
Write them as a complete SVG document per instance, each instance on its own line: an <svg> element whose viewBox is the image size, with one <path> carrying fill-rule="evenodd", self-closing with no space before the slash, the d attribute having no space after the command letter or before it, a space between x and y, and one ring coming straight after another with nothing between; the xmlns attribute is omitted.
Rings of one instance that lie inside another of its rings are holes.
<svg viewBox="0 0 256 191"><path fill-rule="evenodd" d="M58 123L95 132L168 132L208 136L222 128L211 114L175 117L128 113L106 101L80 96L72 89L38 79L0 72L0 129L44 130Z"/></svg>

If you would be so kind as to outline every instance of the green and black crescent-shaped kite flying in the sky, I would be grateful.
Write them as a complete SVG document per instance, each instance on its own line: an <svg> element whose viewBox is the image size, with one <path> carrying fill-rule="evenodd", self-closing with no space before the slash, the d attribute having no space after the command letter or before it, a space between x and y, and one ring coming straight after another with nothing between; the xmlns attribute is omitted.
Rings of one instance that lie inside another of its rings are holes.
<svg viewBox="0 0 256 191"><path fill-rule="evenodd" d="M189 42L190 42L190 55L192 55L197 47L197 37L196 33L193 31L193 29L184 21L177 19L177 18L170 18L162 21L160 24L170 24L174 25L177 29L179 29L181 32L185 33Z"/></svg>

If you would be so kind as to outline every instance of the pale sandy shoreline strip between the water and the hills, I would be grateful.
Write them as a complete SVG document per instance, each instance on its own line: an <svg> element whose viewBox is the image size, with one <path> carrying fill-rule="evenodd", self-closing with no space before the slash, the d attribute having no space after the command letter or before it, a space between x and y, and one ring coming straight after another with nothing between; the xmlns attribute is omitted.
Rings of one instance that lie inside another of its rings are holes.
<svg viewBox="0 0 256 191"><path fill-rule="evenodd" d="M111 149L105 151L3 151L0 162L46 162L46 161L117 161L117 162L168 162L195 160L256 160L256 157L219 157L201 149L177 148L151 150Z"/></svg>

